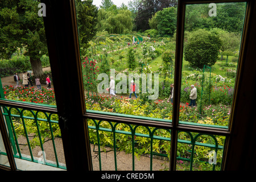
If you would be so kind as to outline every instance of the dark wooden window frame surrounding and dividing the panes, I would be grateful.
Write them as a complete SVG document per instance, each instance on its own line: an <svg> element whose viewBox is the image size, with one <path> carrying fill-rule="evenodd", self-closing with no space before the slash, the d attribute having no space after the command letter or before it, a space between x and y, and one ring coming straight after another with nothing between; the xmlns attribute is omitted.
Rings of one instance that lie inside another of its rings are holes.
<svg viewBox="0 0 256 182"><path fill-rule="evenodd" d="M67 170L92 170L92 160L88 139L86 119L104 119L105 121L132 123L135 125L152 126L171 129L171 161L170 170L176 169L177 132L192 131L196 133L226 136L222 170L255 169L255 111L254 87L256 82L255 43L256 35L256 4L254 1L192 1L179 0L177 14L177 39L175 63L175 97L172 123L117 117L97 113L86 113L84 88L82 85L81 60L77 32L75 1L51 1L46 3L47 16L44 17L48 52L55 80L57 108L35 106L26 103L0 100L2 106L15 106L25 109L51 111L59 115L59 125L63 138L63 147ZM179 123L179 100L181 86L181 64L183 57L184 15L185 5L194 3L247 2L245 26L243 30L241 55L237 70L236 89L234 90L232 113L229 129L182 125ZM68 86L67 86L68 85ZM246 107L248 106L248 107ZM13 152L7 137L3 115L0 114L0 129L5 143L10 168L0 165L1 169L16 170ZM241 156L251 156L242 159Z"/></svg>

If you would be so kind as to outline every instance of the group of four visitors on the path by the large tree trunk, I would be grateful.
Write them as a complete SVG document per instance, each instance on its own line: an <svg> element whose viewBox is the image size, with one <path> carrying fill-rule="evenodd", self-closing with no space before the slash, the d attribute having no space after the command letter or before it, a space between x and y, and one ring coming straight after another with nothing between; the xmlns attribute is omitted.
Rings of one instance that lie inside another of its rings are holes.
<svg viewBox="0 0 256 182"><path fill-rule="evenodd" d="M29 87L30 85L33 86L30 73L23 72L22 78L23 78L22 84L24 85L25 88ZM16 82L15 87L19 86L20 77L18 73L15 73L14 81ZM40 78L35 78L35 84L37 88L41 90ZM49 78L49 75L46 78L46 84L48 85L47 89L51 89L51 80Z"/></svg>

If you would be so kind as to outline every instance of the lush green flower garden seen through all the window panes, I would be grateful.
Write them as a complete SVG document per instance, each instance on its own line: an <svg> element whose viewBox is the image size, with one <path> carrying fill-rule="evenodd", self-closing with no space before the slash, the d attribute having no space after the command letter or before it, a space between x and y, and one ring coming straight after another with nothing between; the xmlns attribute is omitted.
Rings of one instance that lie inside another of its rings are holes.
<svg viewBox="0 0 256 182"><path fill-rule="evenodd" d="M90 2L84 2L92 10L88 11L90 16L97 16L97 22L95 19L84 18L87 16L82 11L85 4L81 1L76 2L86 110L172 122L173 105L168 98L171 94L170 85L175 84L176 81L174 79L176 5L164 9L155 7L158 9L157 13L150 13L153 16L147 17L148 21L145 23L143 20L146 14L137 14L125 7L117 8L115 5L102 6L96 11L95 7L89 5ZM140 6L146 6L146 3ZM221 5L218 7L220 16L216 18L208 17L208 11L203 11L205 8L208 7L187 6L179 121L184 125L227 129L236 82L243 22L241 17L245 4L238 3L236 7L229 4ZM229 11L226 13L226 9L236 13ZM226 26L222 20L224 15L230 16L229 19L225 18L229 21L227 23L229 26ZM167 24L164 19L168 19ZM131 25L132 20L134 25ZM236 26L232 27L230 24ZM42 28L40 26L38 31L42 31ZM133 31L134 28L137 31ZM85 30L89 31L90 35ZM31 36L26 37L26 40L30 40ZM39 42L39 39L40 36L36 35L28 43L33 42L32 40ZM34 70L35 64L32 66L31 61L35 60L42 63L42 67L49 67L47 46L44 42L38 44L42 51L40 55L32 55L33 59L28 56L30 52L27 48L13 51L2 42L1 78L14 72ZM32 49L33 51L36 52ZM102 75L105 76L104 80ZM110 96L109 91L106 90L109 87L110 76L115 78L115 89L121 90L116 93L117 97ZM146 83L142 81L143 77ZM129 98L130 79L137 84L138 98L135 98L134 94ZM35 77L32 77L32 80L35 80ZM41 78L42 82L43 80L44 77ZM102 84L103 81L106 84ZM197 89L196 107L189 106L191 85L195 85ZM39 90L35 86L24 88L3 84L2 93L7 100L56 105L54 89L48 90L44 86ZM152 94L156 94L157 97L151 99ZM18 116L20 113L18 110L13 110L11 114ZM23 114L24 118L12 118L15 133L19 137L24 137L26 132L32 134L31 146L39 146L49 138L49 123L44 121L47 117L42 113L37 116L42 118L37 121L41 127L39 136L35 119L31 119L34 115L30 111L24 111ZM52 119L58 121L56 115ZM23 123L26 123L26 132ZM112 150L134 154L138 160L142 155L148 157L154 155L155 158L164 161L170 159L171 131L169 130L93 119L88 119L88 126L90 142L100 146L104 151L106 151L105 147L110 147ZM54 137L61 138L57 124L53 125L51 130ZM38 137L42 138L42 141ZM177 169L220 169L225 137L189 132L179 132L178 137ZM213 151L217 153L216 156ZM209 159L215 157L212 166ZM168 166L164 169L168 169Z"/></svg>

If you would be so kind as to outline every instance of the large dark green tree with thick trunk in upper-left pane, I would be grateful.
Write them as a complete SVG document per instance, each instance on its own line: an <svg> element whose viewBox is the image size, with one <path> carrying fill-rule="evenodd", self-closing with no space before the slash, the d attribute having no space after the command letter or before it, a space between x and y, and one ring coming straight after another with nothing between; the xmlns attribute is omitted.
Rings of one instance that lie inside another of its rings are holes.
<svg viewBox="0 0 256 182"><path fill-rule="evenodd" d="M0 55L10 59L19 48L26 49L35 76L43 73L40 57L47 54L43 18L38 16L40 1L1 1Z"/></svg>

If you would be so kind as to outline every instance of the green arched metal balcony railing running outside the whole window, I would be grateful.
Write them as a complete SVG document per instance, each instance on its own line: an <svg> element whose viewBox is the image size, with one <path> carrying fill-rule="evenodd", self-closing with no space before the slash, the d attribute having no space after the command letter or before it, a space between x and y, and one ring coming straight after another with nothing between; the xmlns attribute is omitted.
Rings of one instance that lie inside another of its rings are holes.
<svg viewBox="0 0 256 182"><path fill-rule="evenodd" d="M66 169L65 164L59 162L59 156L64 154L60 154L55 145L55 139L61 137L57 114L16 107L2 106L1 108L15 158ZM150 159L148 164L150 170L155 170L153 164L156 158L167 163L170 159L171 130L95 119L88 119L88 127L89 140L94 145L92 151L98 154L99 170L102 170L102 152L106 152L105 147L110 147L114 152L115 170L119 168L117 152L131 154L132 170L135 170L135 160L140 156ZM178 137L177 169L220 170L224 136L180 131ZM20 149L22 144L19 138L26 139L29 155L25 156ZM52 162L47 160L44 147L46 140L52 142L52 153L55 156ZM33 152L36 146L39 146L42 151L40 158ZM0 151L0 158L1 155L6 153ZM164 169L168 170L168 165L163 167Z"/></svg>

